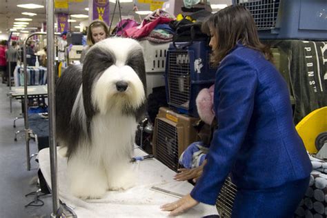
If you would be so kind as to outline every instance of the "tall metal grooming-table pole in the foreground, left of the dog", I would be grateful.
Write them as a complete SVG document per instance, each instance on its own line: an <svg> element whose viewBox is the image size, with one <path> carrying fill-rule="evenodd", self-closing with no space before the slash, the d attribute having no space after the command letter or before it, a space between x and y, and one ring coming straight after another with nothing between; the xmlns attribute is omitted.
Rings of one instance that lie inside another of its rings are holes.
<svg viewBox="0 0 327 218"><path fill-rule="evenodd" d="M50 147L50 170L52 189L52 214L57 217L59 212L58 179L57 179L57 141L56 141L56 108L54 92L54 1L46 1L47 19L47 66L48 66L48 100L49 100L49 147Z"/></svg>

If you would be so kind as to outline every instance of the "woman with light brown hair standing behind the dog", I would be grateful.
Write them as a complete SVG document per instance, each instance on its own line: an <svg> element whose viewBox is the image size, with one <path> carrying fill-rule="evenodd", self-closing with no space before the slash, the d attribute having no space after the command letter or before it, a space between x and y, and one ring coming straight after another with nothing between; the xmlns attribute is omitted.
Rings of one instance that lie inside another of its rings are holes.
<svg viewBox="0 0 327 218"><path fill-rule="evenodd" d="M85 46L83 48L83 51L81 52L81 63L83 63L85 59L86 52L98 41L101 41L103 39L106 39L109 37L109 29L105 22L100 20L95 20L90 23L90 26L88 26L88 34L86 37L86 43L88 43L88 46Z"/></svg>

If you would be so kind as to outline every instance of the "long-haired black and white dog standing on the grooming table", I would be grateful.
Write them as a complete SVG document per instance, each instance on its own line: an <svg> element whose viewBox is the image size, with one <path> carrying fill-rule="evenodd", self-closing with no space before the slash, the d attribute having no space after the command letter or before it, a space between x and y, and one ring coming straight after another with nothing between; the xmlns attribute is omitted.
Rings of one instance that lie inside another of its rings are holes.
<svg viewBox="0 0 327 218"><path fill-rule="evenodd" d="M72 195L101 198L134 180L130 157L137 121L146 109L142 48L110 38L92 46L81 66L57 81L57 139L67 147Z"/></svg>

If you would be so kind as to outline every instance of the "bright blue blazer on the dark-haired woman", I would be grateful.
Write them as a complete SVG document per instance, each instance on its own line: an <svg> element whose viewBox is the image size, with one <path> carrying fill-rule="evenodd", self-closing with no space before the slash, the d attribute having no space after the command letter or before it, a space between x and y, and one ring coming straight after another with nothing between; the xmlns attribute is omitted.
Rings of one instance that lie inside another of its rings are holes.
<svg viewBox="0 0 327 218"><path fill-rule="evenodd" d="M237 44L215 79L215 130L204 172L191 196L215 204L228 173L241 189L281 186L310 176L295 130L288 87L261 52Z"/></svg>

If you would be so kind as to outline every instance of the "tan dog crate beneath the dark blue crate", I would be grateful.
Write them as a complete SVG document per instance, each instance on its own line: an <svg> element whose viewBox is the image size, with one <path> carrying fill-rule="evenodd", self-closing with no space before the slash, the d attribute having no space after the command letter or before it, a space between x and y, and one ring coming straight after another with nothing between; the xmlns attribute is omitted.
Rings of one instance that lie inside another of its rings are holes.
<svg viewBox="0 0 327 218"><path fill-rule="evenodd" d="M152 138L155 158L177 172L179 156L190 143L198 140L194 127L198 121L195 117L181 115L168 108L159 108Z"/></svg>

